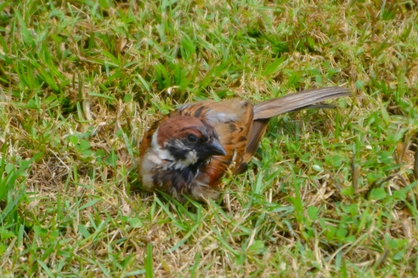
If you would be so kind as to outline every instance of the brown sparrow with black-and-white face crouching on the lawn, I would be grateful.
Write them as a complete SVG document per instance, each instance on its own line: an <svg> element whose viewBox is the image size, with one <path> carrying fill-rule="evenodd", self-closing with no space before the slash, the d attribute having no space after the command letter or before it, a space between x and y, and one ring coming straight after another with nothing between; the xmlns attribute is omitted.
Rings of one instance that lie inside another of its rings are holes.
<svg viewBox="0 0 418 278"><path fill-rule="evenodd" d="M323 100L350 95L346 88L317 88L252 105L233 98L180 105L153 123L139 148L139 177L144 189L184 201L218 199L227 171L237 174L263 138L270 118Z"/></svg>

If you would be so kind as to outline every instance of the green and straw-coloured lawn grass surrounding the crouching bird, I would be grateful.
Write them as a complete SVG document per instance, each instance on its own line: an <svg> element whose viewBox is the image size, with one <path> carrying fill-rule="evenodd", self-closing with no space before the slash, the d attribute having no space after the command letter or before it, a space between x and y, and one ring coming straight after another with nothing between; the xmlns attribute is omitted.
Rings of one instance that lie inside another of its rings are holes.
<svg viewBox="0 0 418 278"><path fill-rule="evenodd" d="M1 277L416 277L417 1L3 1ZM179 103L341 85L222 202L139 192Z"/></svg>

